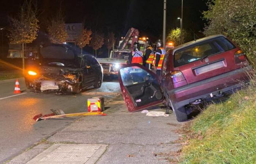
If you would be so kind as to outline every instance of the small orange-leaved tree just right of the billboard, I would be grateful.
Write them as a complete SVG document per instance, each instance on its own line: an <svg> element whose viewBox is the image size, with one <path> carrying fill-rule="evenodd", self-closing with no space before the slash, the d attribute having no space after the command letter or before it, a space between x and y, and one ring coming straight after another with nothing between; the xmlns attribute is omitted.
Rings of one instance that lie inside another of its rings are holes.
<svg viewBox="0 0 256 164"><path fill-rule="evenodd" d="M83 29L82 33L76 39L76 44L81 48L81 54L83 52L83 47L90 43L91 33L91 30Z"/></svg>

